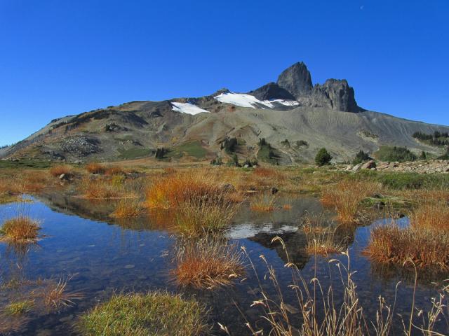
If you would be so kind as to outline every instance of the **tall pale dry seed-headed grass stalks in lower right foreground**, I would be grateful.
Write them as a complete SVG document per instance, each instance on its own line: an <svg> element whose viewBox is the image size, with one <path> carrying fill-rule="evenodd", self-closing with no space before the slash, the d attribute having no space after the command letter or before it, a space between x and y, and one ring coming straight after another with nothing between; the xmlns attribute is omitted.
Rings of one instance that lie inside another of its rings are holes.
<svg viewBox="0 0 449 336"><path fill-rule="evenodd" d="M283 251L286 252L286 246L282 239L275 237L272 243L276 241L282 244ZM243 248L243 251L250 260L246 249ZM262 311L264 322L267 323L267 328L264 328L261 323L258 323L256 327L248 321L246 325L251 334L254 336L264 335L265 333L276 336L363 336L373 335L373 333L377 336L397 335L397 328L396 330L393 328L394 323L396 323L394 320L394 316L396 316L394 312L396 297L393 307L388 306L384 299L379 297L379 308L375 318L372 320L366 318L358 298L356 283L353 280L354 271L350 268L349 254L347 252L343 254L347 256L345 265L339 260L329 260L330 264L335 265L339 274L336 282L338 288L333 285L325 288L321 281L316 278L316 274L310 281L304 279L300 269L293 262L290 262L286 252L288 262L285 267L288 267L292 274L292 283L288 286L288 290L293 290L295 293L296 307L292 307L286 302L286 296L283 293L283 288L281 288L281 283L279 283L276 269L267 262L264 255L260 256L268 273L264 279L271 282L272 290L268 290L267 283L257 276L255 265L250 260L250 265L253 267L254 274L260 284L259 297L253 301L251 307L259 308ZM342 300L337 300L337 297L335 297L337 290L342 290ZM273 292L274 294L270 294ZM426 336L442 335L435 332L434 328L438 320L447 317L444 315L444 310L448 304L447 293L442 293L440 297L432 300L433 308L425 317L422 312L416 311L414 302L413 300L408 323L404 323L402 320L402 335L411 336L413 332L422 332L422 335ZM421 325L413 323L414 318L417 317L422 318ZM222 330L227 330L227 328L223 327Z"/></svg>

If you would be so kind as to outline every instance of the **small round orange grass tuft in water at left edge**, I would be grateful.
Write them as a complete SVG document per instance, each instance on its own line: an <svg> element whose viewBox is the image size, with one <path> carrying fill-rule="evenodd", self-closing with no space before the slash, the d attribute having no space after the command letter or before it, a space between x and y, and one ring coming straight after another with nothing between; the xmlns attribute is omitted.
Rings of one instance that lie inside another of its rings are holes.
<svg viewBox="0 0 449 336"><path fill-rule="evenodd" d="M3 239L13 242L36 241L39 235L39 223L27 216L18 216L4 221L0 233Z"/></svg>

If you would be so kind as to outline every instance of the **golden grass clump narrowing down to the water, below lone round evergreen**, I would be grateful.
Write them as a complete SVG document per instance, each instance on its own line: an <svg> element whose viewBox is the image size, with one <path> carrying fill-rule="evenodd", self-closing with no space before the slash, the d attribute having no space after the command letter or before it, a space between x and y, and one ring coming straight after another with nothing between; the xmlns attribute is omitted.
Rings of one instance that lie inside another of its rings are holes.
<svg viewBox="0 0 449 336"><path fill-rule="evenodd" d="M335 209L341 223L353 223L357 219L361 200L374 195L378 190L380 190L379 183L343 180L323 190L321 203L325 207Z"/></svg>

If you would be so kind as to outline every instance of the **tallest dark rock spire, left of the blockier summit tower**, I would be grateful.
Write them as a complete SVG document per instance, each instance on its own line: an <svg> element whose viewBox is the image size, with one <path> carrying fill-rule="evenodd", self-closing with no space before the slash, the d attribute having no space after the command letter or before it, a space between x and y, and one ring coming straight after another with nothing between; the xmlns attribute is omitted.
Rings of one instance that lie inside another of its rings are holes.
<svg viewBox="0 0 449 336"><path fill-rule="evenodd" d="M279 87L287 90L293 97L300 99L310 94L312 90L311 76L304 62L297 62L282 71L279 75L277 84Z"/></svg>

